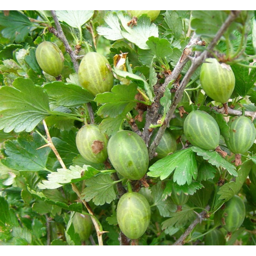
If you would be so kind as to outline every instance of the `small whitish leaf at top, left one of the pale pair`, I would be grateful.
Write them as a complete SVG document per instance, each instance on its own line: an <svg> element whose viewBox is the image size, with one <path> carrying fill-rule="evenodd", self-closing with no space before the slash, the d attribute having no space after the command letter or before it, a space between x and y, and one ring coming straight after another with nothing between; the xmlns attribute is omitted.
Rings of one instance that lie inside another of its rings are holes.
<svg viewBox="0 0 256 256"><path fill-rule="evenodd" d="M127 22L129 21L129 17L127 17ZM124 38L121 35L121 27L119 24L119 19L117 17L116 12L108 12L104 18L105 22L109 27L100 26L97 28L97 32L99 35L104 36L108 40L116 41Z"/></svg>

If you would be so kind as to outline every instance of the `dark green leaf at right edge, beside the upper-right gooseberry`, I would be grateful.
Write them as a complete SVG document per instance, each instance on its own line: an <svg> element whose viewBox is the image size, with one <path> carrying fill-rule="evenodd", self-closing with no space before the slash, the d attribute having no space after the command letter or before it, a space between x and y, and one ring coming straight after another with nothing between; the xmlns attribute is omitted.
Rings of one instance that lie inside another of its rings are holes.
<svg viewBox="0 0 256 256"><path fill-rule="evenodd" d="M249 61L243 61L241 63L249 66ZM254 63L253 66L255 65L256 64ZM231 68L236 78L234 92L245 97L256 81L256 69L252 68L249 73L249 68L242 67L238 64L232 65Z"/></svg>

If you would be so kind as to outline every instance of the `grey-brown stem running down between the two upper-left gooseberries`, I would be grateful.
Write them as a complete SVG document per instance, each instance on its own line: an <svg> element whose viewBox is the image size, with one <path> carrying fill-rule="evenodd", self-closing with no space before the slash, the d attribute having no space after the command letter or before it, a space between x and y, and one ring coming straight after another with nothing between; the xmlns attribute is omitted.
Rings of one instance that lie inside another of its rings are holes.
<svg viewBox="0 0 256 256"><path fill-rule="evenodd" d="M60 22L58 20L57 15L56 15L56 12L51 11L51 14L52 14L52 18L54 20L54 23L56 25L57 30L55 28L50 28L49 31L52 32L58 38L60 38L60 40L63 42L66 51L69 53L69 55L71 57L71 60L73 62L74 68L75 68L75 71L77 73L78 68L79 68L77 56L76 56L75 52L72 50L71 46L68 44L68 40L67 40L66 36L63 33L63 30L61 28L61 25L60 25ZM89 115L90 115L90 118L91 118L91 122L94 123L94 114L93 114L91 103L90 102L86 103L86 107L88 109L88 112L89 112Z"/></svg>

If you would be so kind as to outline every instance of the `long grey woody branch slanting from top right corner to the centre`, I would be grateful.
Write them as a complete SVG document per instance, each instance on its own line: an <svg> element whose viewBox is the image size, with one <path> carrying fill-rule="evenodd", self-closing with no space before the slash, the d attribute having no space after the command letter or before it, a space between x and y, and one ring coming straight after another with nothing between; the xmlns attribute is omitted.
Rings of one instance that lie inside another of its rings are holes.
<svg viewBox="0 0 256 256"><path fill-rule="evenodd" d="M169 124L171 117L174 114L175 109L177 108L178 103L180 102L180 100L182 98L183 92L184 92L191 76L196 71L196 69L204 62L204 60L207 58L208 54L210 52L212 52L213 48L215 47L217 42L220 40L220 37L224 34L224 32L227 30L227 28L230 26L230 24L236 19L236 17L238 16L239 13L240 13L240 11L232 11L230 13L230 15L228 16L228 18L226 19L226 21L220 27L220 29L217 32L217 34L215 35L215 37L212 39L212 42L208 45L207 49L204 50L204 52L202 52L199 56L196 56L193 58L192 64L191 64L190 68L188 69L188 72L182 79L180 86L175 93L174 99L172 101L172 105L171 105L171 107L166 115L166 118L164 120L164 124L158 130L155 140L151 143L151 145L148 149L150 159L154 156L156 147L159 145L159 142L164 134L164 131L165 131L167 125Z"/></svg>

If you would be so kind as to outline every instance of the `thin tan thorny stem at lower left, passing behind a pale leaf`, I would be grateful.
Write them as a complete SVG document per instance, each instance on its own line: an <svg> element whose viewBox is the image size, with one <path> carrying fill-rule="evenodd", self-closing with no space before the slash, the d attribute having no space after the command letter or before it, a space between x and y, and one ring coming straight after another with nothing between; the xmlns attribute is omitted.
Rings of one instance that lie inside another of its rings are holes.
<svg viewBox="0 0 256 256"><path fill-rule="evenodd" d="M43 124L44 124L44 130L46 132L47 135L47 140L48 140L48 144L46 144L47 147L50 147L52 149L52 151L54 152L55 156L57 157L58 161L60 162L60 165L63 169L67 169L66 165L64 164L62 158L60 157L59 152L57 151L57 149L55 148L55 146L52 143L52 138L50 136L47 124L45 122L45 120L43 120ZM81 193L79 192L78 188L76 187L76 185L74 183L71 183L72 189L73 191L76 193L76 195L79 197L79 199L81 200L81 202L84 204L84 206L86 207L87 211L94 216L94 213L92 211L91 206L83 199L81 199ZM95 220L94 217L91 217L93 225L96 229L97 232L97 237L98 237L98 242L99 245L103 245L103 240L102 240L102 234L105 233L106 231L102 231L100 228L99 223Z"/></svg>

